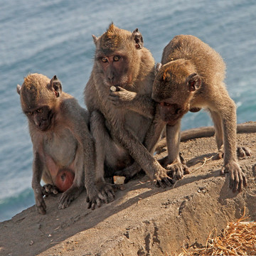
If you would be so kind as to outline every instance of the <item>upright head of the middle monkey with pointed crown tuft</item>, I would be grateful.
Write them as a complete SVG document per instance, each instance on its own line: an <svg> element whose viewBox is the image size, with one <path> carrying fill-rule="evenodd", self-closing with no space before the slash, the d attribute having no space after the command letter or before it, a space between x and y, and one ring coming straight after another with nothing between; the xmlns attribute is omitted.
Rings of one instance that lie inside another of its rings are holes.
<svg viewBox="0 0 256 256"><path fill-rule="evenodd" d="M138 28L132 33L117 28L113 23L99 38L92 35L95 42L95 64L97 74L104 85L129 87L139 74L141 63L142 34Z"/></svg>

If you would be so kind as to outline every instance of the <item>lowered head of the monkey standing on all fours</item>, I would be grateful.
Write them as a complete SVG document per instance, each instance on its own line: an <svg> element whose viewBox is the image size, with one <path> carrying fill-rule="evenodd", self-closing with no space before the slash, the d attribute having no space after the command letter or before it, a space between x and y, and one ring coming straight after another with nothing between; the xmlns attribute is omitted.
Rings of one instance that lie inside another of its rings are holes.
<svg viewBox="0 0 256 256"><path fill-rule="evenodd" d="M190 109L190 102L200 87L201 77L189 60L158 63L152 98L160 105L161 119L169 125L176 124Z"/></svg>

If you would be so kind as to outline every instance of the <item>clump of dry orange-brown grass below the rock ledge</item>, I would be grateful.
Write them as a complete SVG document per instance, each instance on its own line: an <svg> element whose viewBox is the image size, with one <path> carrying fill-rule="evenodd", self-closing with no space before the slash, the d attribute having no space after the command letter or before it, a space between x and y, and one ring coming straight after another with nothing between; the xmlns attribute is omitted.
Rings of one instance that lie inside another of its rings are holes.
<svg viewBox="0 0 256 256"><path fill-rule="evenodd" d="M256 255L256 222L244 221L242 217L228 223L220 236L216 236L214 229L206 240L206 247L186 250L178 256L208 256L208 255Z"/></svg>

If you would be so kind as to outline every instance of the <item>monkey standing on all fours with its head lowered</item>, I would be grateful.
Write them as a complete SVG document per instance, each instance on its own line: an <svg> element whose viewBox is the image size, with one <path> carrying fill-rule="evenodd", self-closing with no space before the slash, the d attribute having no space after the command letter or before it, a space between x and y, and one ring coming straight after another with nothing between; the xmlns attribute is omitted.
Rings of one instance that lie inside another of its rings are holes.
<svg viewBox="0 0 256 256"><path fill-rule="evenodd" d="M242 191L247 181L236 156L236 110L223 82L223 59L195 36L180 35L164 48L156 71L152 98L159 103L161 119L166 122L166 169L176 178L181 178L187 170L178 154L181 117L189 110L197 112L204 108L213 119L219 156L224 148L224 166L220 173L230 174L233 191Z"/></svg>

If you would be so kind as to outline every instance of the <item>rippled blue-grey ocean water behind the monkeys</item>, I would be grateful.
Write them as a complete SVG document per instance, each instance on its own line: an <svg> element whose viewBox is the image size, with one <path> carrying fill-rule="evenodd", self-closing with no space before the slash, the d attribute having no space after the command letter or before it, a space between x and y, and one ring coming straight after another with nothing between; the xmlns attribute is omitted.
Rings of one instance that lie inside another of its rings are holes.
<svg viewBox="0 0 256 256"><path fill-rule="evenodd" d="M238 122L256 117L256 1L0 0L0 221L34 204L33 160L17 83L28 73L58 75L63 90L85 107L82 92L94 54L92 34L111 21L139 28L156 62L178 34L192 34L215 48L227 65L225 80L238 106ZM189 113L182 129L212 125L206 112Z"/></svg>

